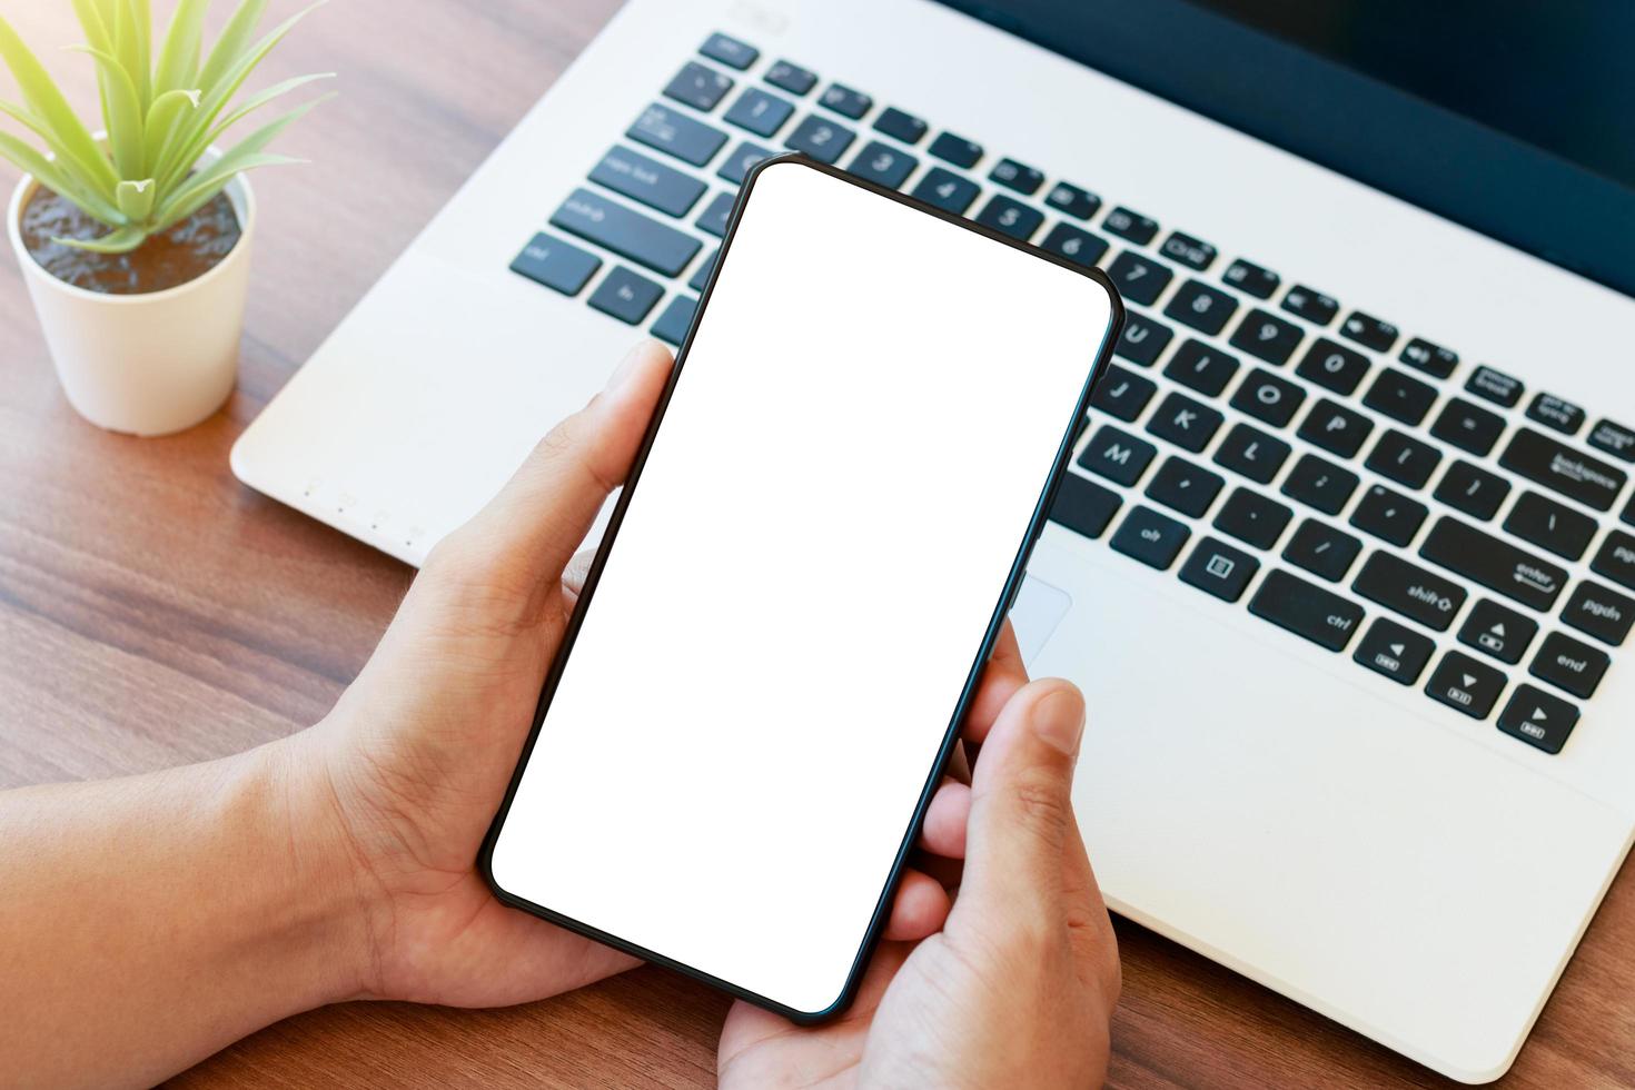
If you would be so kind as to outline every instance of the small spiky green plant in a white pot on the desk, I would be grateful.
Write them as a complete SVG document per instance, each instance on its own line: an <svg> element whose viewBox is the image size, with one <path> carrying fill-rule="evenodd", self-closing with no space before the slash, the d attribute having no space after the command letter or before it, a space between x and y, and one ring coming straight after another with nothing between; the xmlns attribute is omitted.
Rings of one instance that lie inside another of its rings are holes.
<svg viewBox="0 0 1635 1090"><path fill-rule="evenodd" d="M267 147L317 101L229 150L217 142L324 78L235 101L311 8L258 38L267 0L242 0L206 49L208 7L178 0L157 39L149 0L74 0L87 39L77 49L96 65L100 132L0 20L0 60L21 92L0 113L43 145L0 131L0 155L25 172L7 232L69 402L113 431L180 431L232 392L255 229L244 172L296 162Z"/></svg>

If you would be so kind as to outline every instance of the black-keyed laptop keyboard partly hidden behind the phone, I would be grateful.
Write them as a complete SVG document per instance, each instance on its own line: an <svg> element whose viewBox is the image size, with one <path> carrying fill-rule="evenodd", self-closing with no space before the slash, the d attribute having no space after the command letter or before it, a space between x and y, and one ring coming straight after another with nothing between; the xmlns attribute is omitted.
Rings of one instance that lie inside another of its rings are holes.
<svg viewBox="0 0 1635 1090"><path fill-rule="evenodd" d="M512 270L679 345L739 183L783 149L1118 286L1128 320L1053 521L1561 750L1635 623L1635 428L1586 430L1563 397L726 34ZM1592 579L1566 567L1586 556Z"/></svg>

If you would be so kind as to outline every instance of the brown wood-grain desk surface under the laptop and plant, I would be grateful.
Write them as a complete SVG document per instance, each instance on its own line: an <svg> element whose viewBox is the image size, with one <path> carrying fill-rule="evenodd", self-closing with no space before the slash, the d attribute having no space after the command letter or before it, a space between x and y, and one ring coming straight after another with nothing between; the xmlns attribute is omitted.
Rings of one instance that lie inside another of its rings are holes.
<svg viewBox="0 0 1635 1090"><path fill-rule="evenodd" d="M88 64L47 49L77 41L69 5L8 7L90 101ZM239 394L186 435L137 441L75 417L0 261L0 786L217 757L330 706L410 570L244 489L227 449L615 7L348 0L301 28L268 75L337 70L343 96L289 134L312 165L255 178ZM1118 938L1113 1085L1440 1083L1138 927ZM353 1003L271 1026L180 1082L708 1085L724 1010L654 969L513 1010ZM1628 874L1507 1083L1635 1085Z"/></svg>

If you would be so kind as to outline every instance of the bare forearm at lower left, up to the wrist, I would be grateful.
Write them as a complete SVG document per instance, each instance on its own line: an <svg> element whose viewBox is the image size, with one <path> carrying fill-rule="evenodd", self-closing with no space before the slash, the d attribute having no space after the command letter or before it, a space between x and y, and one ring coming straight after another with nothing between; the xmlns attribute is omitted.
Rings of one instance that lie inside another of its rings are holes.
<svg viewBox="0 0 1635 1090"><path fill-rule="evenodd" d="M0 794L5 1082L152 1085L358 990L356 891L291 757Z"/></svg>

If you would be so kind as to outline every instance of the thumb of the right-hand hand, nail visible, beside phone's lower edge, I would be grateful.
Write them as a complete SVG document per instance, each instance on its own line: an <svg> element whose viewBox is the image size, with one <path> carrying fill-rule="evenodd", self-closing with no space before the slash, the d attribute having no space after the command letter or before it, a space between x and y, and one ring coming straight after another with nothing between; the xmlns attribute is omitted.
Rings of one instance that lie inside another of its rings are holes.
<svg viewBox="0 0 1635 1090"><path fill-rule="evenodd" d="M1061 907L1082 734L1084 698L1069 681L1033 681L1001 709L971 778L961 900Z"/></svg>

